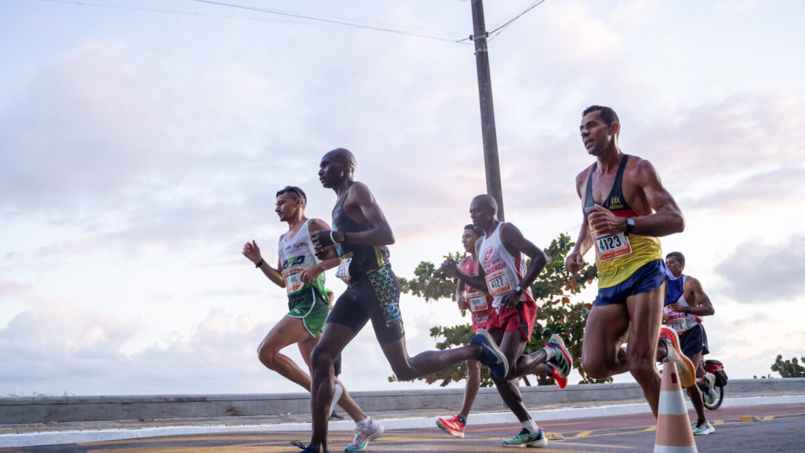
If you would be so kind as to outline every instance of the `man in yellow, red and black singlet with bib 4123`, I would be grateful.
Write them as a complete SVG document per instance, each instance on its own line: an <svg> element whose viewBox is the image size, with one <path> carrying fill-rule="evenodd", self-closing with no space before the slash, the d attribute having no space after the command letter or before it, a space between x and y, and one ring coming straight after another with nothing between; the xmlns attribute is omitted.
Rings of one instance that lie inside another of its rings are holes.
<svg viewBox="0 0 805 453"><path fill-rule="evenodd" d="M596 379L632 373L656 417L655 355L677 364L683 387L693 385L696 373L673 329L660 329L667 268L657 237L682 232L685 220L651 163L621 152L621 124L613 109L588 107L579 129L596 162L576 176L584 216L565 266L578 272L593 244L598 266L598 295L584 325L581 362ZM629 348L622 348L626 338Z"/></svg>

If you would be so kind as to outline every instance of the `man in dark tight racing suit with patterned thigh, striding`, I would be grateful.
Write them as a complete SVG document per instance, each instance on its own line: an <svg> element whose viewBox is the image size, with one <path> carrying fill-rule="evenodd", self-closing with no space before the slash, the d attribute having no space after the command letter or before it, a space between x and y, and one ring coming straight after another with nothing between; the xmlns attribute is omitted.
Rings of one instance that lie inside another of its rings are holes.
<svg viewBox="0 0 805 453"><path fill-rule="evenodd" d="M319 179L338 196L332 210L332 231L312 234L320 259L337 257L341 264L336 276L347 282L347 289L336 300L324 325L321 341L313 349L311 443L304 451L327 451L328 402L332 399L332 364L336 356L371 319L374 335L400 381L434 373L468 359L481 360L491 373L506 376L506 357L485 331L481 330L461 348L428 351L409 356L406 351L403 317L399 308L399 282L392 272L386 245L394 243L386 216L364 183L353 180L355 156L344 148L324 154ZM336 245L332 252L330 245ZM365 448L379 432L376 423L358 423L354 451Z"/></svg>

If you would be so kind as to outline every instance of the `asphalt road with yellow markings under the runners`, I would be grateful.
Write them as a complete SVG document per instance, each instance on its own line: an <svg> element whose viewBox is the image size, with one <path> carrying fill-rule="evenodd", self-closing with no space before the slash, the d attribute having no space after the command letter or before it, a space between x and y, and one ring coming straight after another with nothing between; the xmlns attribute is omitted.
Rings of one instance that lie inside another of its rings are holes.
<svg viewBox="0 0 805 453"><path fill-rule="evenodd" d="M716 432L696 436L699 451L805 451L805 404L728 407L707 412ZM691 418L695 417L691 411ZM741 420L750 418L751 421ZM470 416L470 423L472 416ZM539 421L538 421L539 422ZM607 418L574 418L544 422L551 440L541 451L628 452L653 451L654 418L647 414ZM517 434L512 423L468 426L464 439L444 434L439 428L388 430L366 451L510 451L501 439ZM194 434L150 439L126 439L97 443L73 443L46 447L0 448L0 453L293 453L293 439L308 440L305 432L240 432ZM331 433L330 451L342 451L352 439L349 431Z"/></svg>

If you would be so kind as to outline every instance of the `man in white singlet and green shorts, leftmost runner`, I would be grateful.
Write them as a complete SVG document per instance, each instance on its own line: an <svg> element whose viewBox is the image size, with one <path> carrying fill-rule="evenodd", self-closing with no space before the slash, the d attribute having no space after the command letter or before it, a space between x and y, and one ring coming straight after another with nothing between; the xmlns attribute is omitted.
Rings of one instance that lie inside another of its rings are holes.
<svg viewBox="0 0 805 453"><path fill-rule="evenodd" d="M277 192L275 212L280 221L288 224L288 231L279 237L276 269L262 258L256 241L243 245L243 255L254 262L271 282L285 288L288 295L290 311L262 340L258 347L258 358L266 368L310 391L311 378L308 373L280 353L281 349L295 343L310 369L310 355L320 340L324 319L329 312L324 296L324 270L332 268L337 262L320 262L316 258L310 234L329 229L329 225L324 220L308 219L304 215L307 201L299 187L287 186ZM368 418L349 396L341 381L337 381L335 395L328 400L331 412L336 402L355 422ZM382 428L380 430L382 432Z"/></svg>

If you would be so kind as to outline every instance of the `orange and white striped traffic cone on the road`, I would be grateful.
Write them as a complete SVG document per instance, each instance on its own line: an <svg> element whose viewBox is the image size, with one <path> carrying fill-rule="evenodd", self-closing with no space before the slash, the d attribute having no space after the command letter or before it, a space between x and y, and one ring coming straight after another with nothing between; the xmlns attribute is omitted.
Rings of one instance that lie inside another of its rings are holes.
<svg viewBox="0 0 805 453"><path fill-rule="evenodd" d="M659 389L657 437L654 453L696 453L691 422L673 362L663 364L663 382Z"/></svg>

